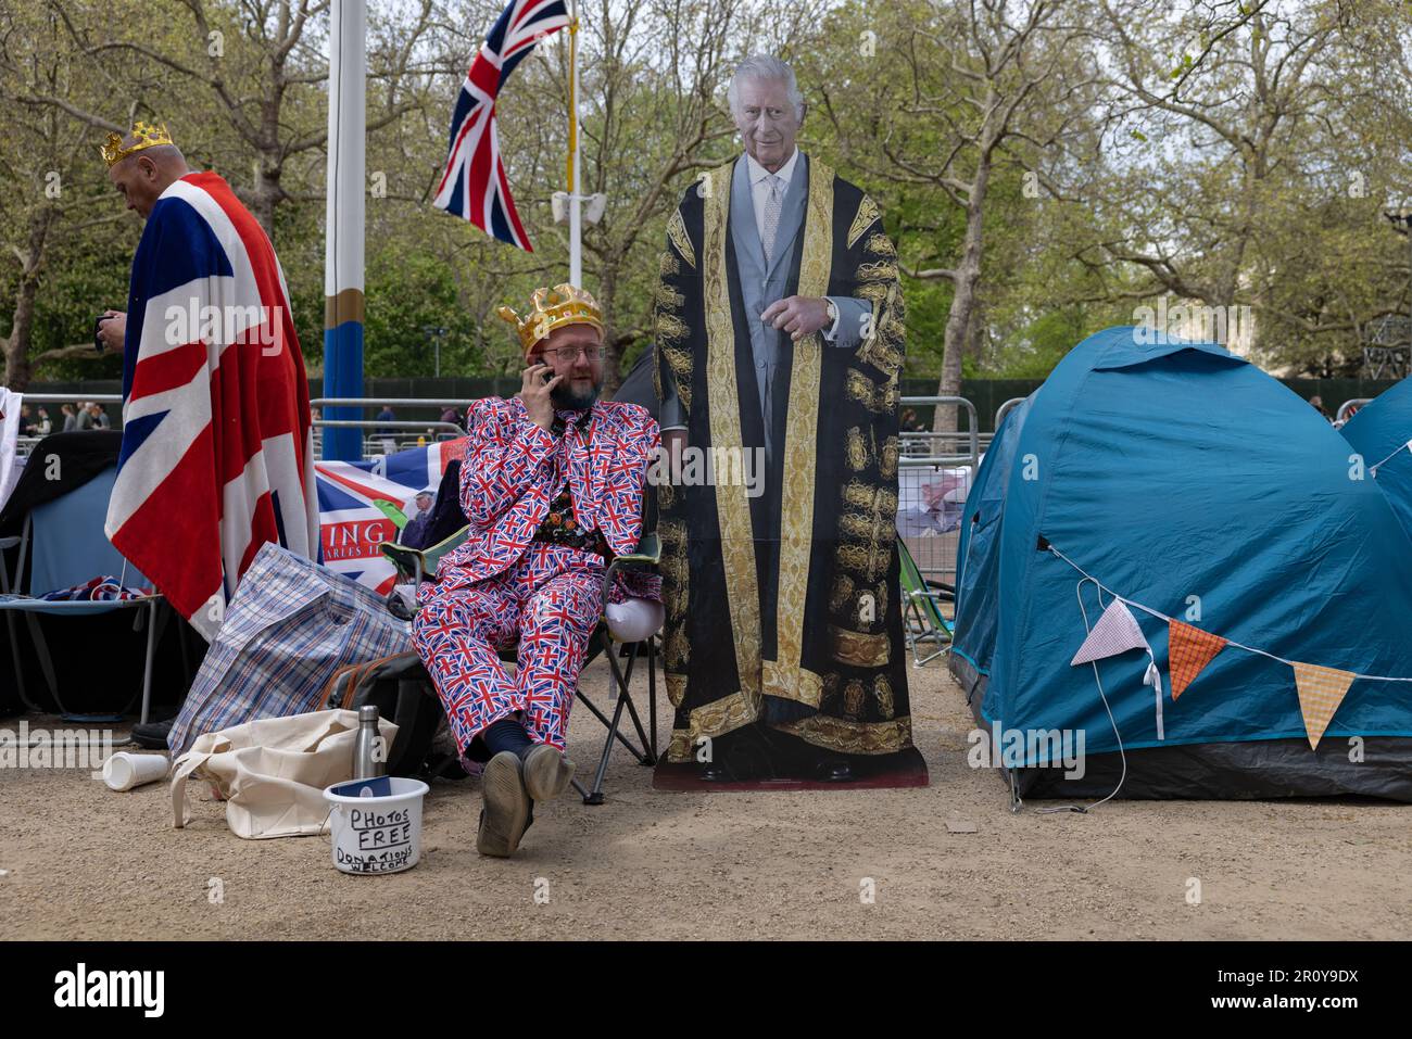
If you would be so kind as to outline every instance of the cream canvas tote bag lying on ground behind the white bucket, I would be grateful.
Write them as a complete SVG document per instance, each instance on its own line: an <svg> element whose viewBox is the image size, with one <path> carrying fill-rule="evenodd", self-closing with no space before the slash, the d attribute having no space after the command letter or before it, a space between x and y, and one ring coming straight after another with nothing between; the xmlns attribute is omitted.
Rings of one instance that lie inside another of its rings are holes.
<svg viewBox="0 0 1412 1039"><path fill-rule="evenodd" d="M388 750L397 726L378 720ZM299 837L326 831L323 789L353 778L357 711L318 710L258 719L196 737L172 762L172 823L182 829L186 781L212 783L237 837Z"/></svg>

